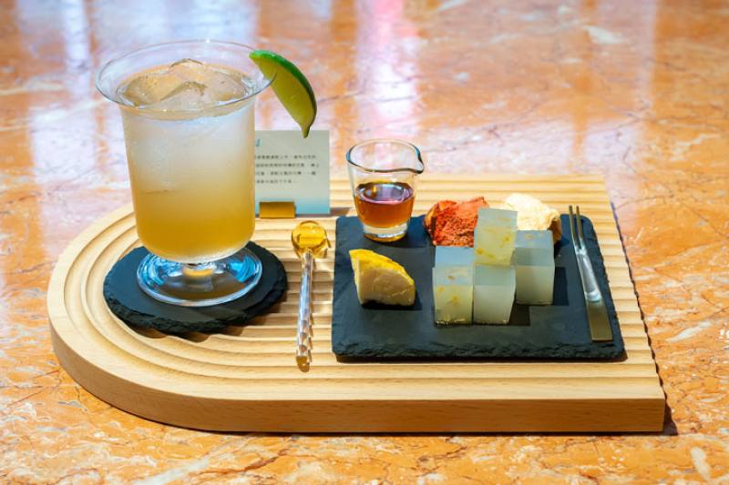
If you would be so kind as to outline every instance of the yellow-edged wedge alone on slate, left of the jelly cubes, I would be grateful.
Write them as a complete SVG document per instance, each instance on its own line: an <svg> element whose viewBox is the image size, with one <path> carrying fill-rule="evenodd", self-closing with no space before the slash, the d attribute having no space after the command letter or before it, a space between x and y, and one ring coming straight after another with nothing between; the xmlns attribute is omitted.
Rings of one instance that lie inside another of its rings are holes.
<svg viewBox="0 0 729 485"><path fill-rule="evenodd" d="M395 261L368 249L352 249L349 257L360 304L376 301L409 307L415 303L416 283Z"/></svg>

